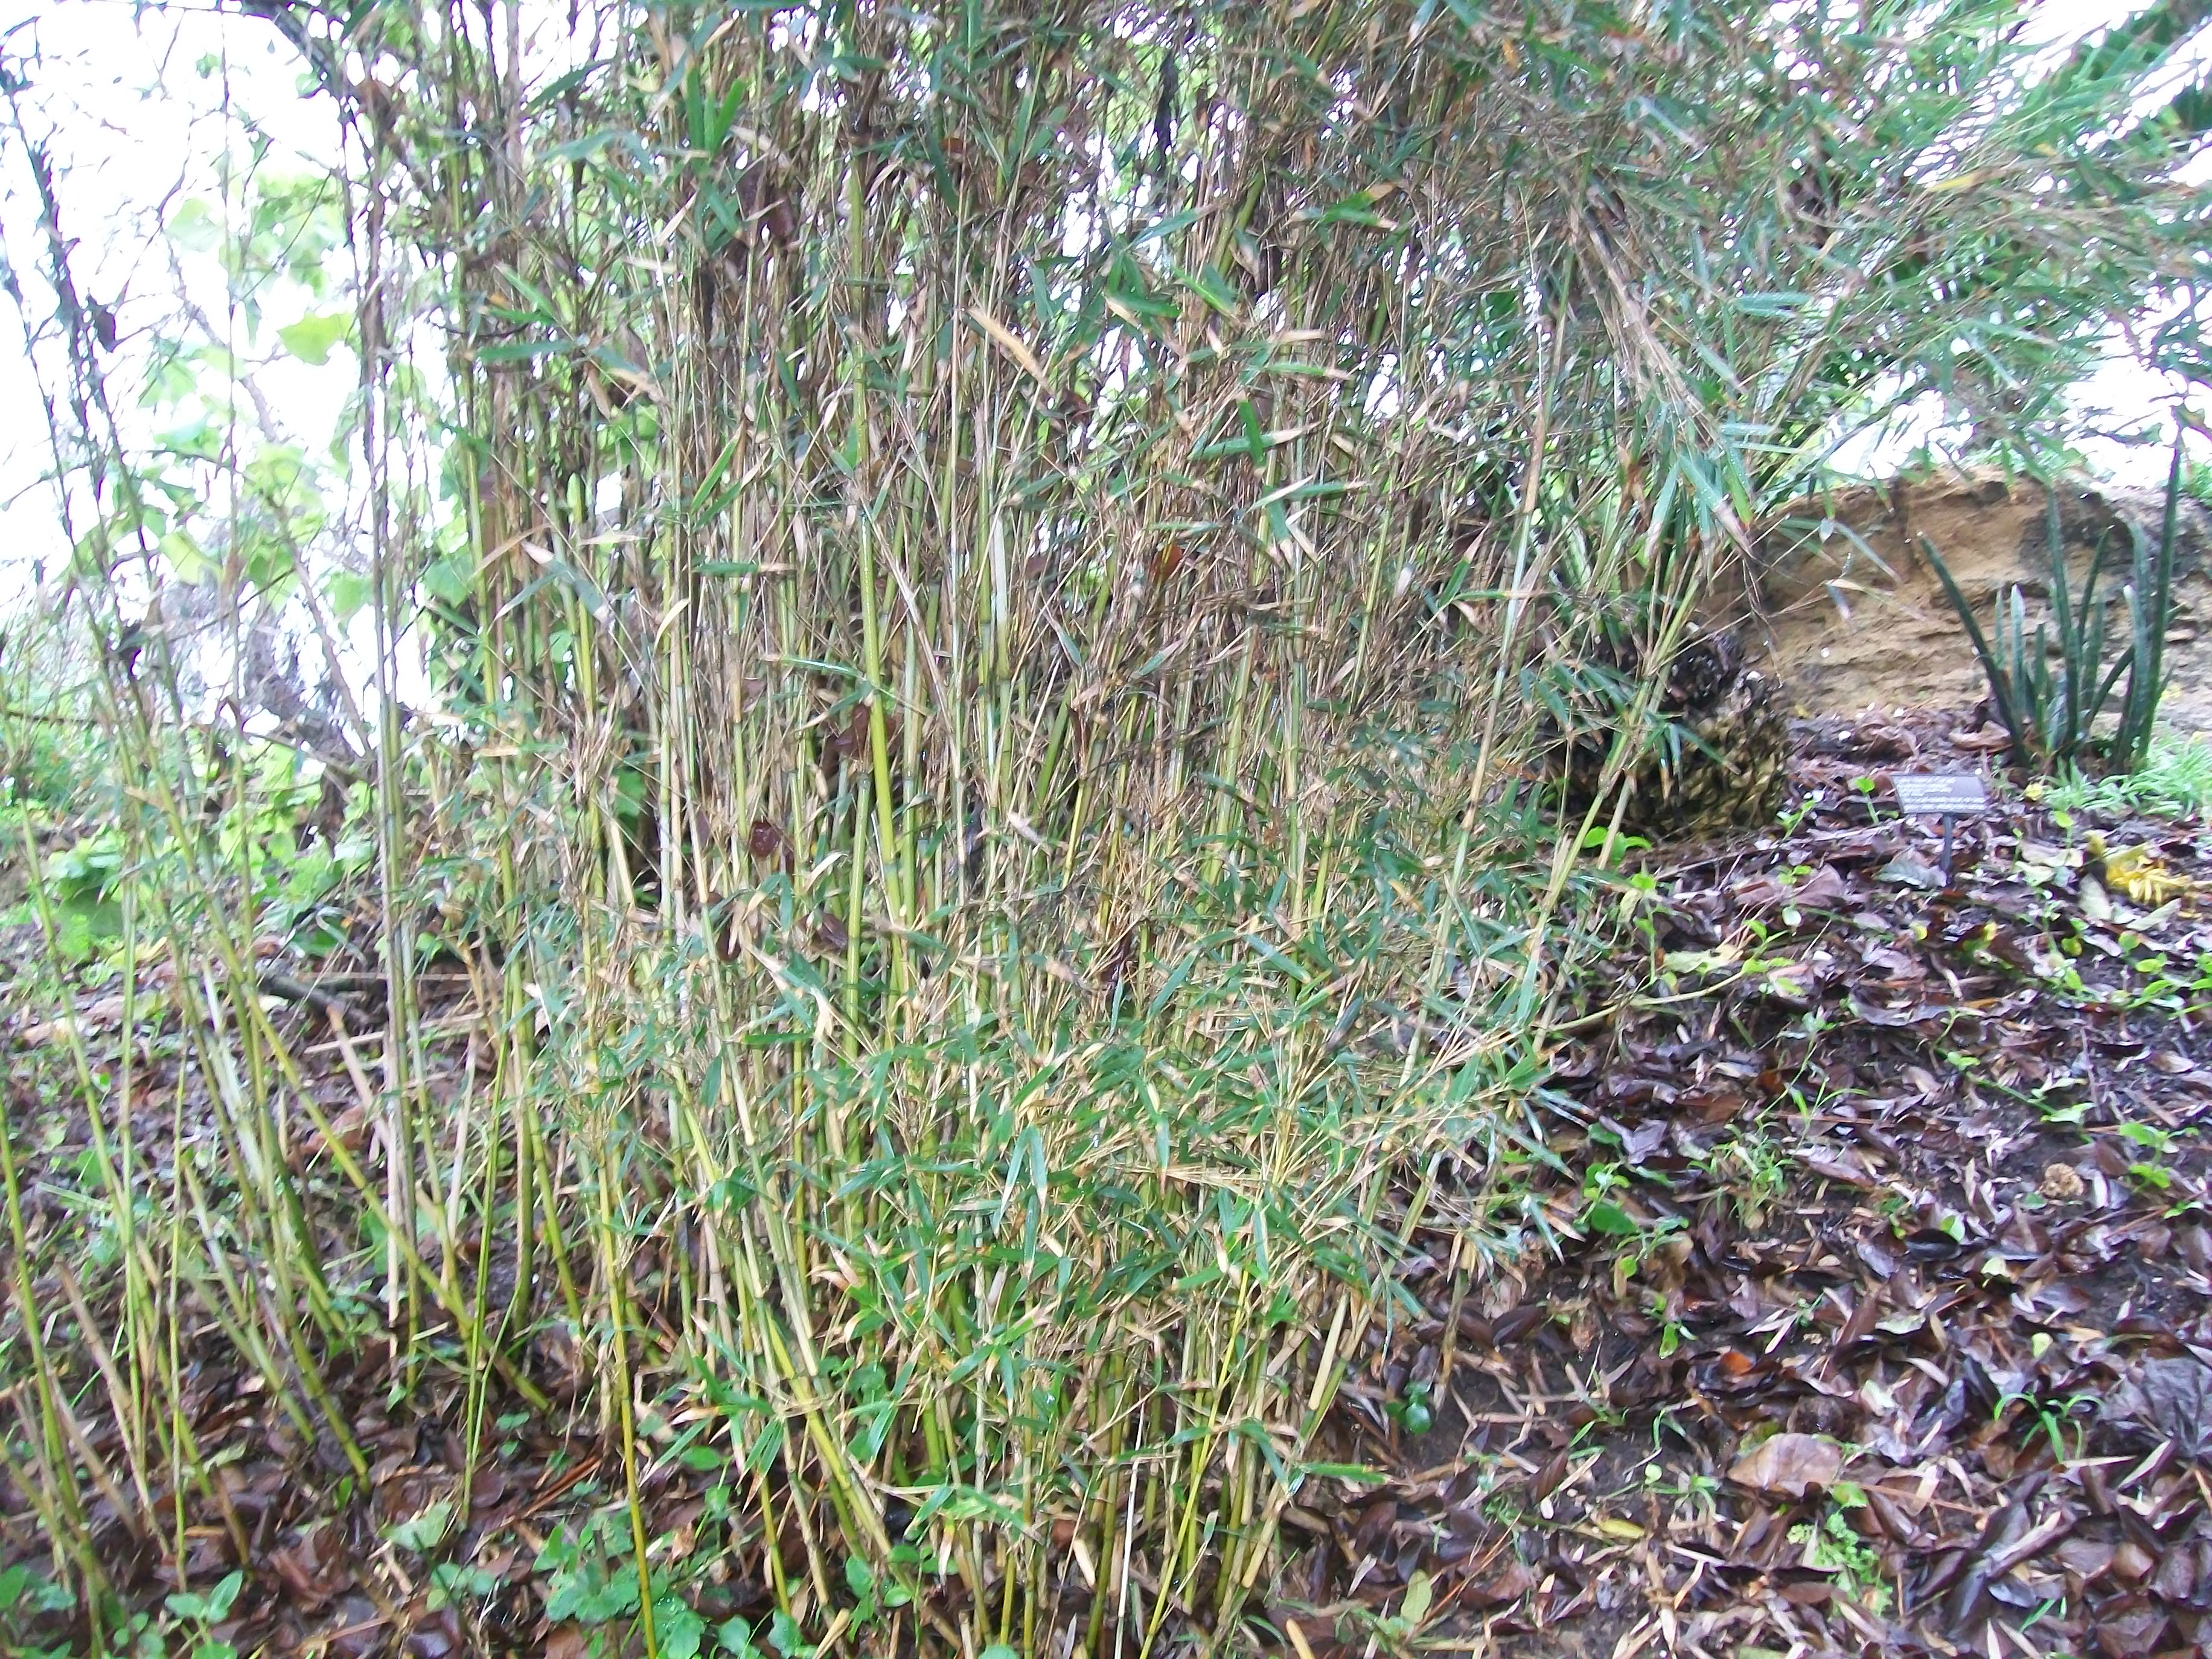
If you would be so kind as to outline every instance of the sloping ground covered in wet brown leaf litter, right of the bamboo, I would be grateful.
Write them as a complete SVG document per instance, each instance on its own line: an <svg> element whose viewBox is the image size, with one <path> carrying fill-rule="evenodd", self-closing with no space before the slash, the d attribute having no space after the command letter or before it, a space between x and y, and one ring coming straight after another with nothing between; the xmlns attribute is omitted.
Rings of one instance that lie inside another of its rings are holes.
<svg viewBox="0 0 2212 1659"><path fill-rule="evenodd" d="M1391 1475L1294 1513L1301 1655L2212 1635L2212 838L1997 790L1947 883L1882 774L1955 726L1803 728L1790 834L1650 860L1526 1254L1422 1237L1334 1425Z"/></svg>

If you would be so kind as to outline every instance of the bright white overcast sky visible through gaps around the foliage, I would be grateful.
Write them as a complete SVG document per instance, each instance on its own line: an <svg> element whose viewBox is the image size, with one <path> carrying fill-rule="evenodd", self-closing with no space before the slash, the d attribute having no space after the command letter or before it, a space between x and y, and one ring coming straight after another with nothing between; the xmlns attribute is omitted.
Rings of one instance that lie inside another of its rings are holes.
<svg viewBox="0 0 2212 1659"><path fill-rule="evenodd" d="M2037 40L2070 42L2121 9L2132 7L2042 0L2028 27ZM66 228L77 241L77 272L91 296L106 303L122 299L128 336L170 307L168 250L161 243L166 215L188 197L219 192L217 157L230 119L226 97L234 113L270 135L276 166L327 164L336 148L334 113L327 100L303 93L296 60L254 18L223 18L212 7L139 11L128 0L0 0L0 49L9 60L27 49L33 20L44 58L38 102L58 115L71 215ZM215 60L206 77L195 71L204 60ZM11 223L24 223L20 206ZM7 252L18 261L35 257L24 248ZM219 279L208 281L208 292L197 299L210 316L219 316ZM13 334L13 319L0 319L0 341ZM341 352L323 369L274 363L259 372L259 380L292 436L321 447L349 392L352 367ZM2110 422L2124 429L2148 420L2177 389L2157 385L2115 356L2081 389L2081 403L2104 407ZM1878 471L1909 442L1891 442L1887 451L1860 445L1851 460ZM2154 451L2117 442L2093 442L2088 451L2099 469L2130 476L2161 471ZM46 465L35 378L18 345L0 345L0 602L20 593L31 560L53 560L62 551L53 504L40 482Z"/></svg>

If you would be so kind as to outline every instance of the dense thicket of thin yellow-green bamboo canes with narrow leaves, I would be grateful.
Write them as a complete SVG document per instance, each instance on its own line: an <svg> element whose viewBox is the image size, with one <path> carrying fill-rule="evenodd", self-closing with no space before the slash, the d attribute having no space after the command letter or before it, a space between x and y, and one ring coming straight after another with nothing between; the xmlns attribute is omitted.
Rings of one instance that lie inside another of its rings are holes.
<svg viewBox="0 0 2212 1659"><path fill-rule="evenodd" d="M221 1352L332 1484L369 1371L471 1471L604 1436L646 1652L699 1644L677 1458L792 1644L1248 1650L1376 1263L1548 1237L1610 803L1546 827L1540 717L1617 772L1657 675L1595 639L1663 666L1889 400L2026 453L2192 259L2194 106L2112 119L2172 18L2053 64L1874 0L250 11L347 133L383 1013L261 995L239 763L108 650L175 1121L75 1046L117 1237L58 1279L18 1206L9 1336L88 1606L219 1509ZM411 1546L469 1557L471 1478Z"/></svg>

